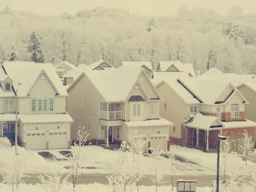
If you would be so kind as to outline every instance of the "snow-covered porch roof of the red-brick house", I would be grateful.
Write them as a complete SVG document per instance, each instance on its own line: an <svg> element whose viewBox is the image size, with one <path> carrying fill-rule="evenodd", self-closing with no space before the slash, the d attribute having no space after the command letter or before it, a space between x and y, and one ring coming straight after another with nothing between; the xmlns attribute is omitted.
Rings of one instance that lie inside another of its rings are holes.
<svg viewBox="0 0 256 192"><path fill-rule="evenodd" d="M193 116L193 120L188 122L186 125L192 128L209 129L213 124L216 123L223 126L223 123L216 116L204 116L201 113L196 113Z"/></svg>

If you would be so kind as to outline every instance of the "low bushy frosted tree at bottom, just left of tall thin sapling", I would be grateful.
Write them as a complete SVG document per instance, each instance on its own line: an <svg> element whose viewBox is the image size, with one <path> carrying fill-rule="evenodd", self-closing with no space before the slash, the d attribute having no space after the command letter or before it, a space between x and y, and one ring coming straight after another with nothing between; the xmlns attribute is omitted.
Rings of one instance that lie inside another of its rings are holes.
<svg viewBox="0 0 256 192"><path fill-rule="evenodd" d="M46 192L60 192L63 188L65 188L65 184L68 182L69 175L64 175L61 172L61 169L54 165L52 169L49 170L49 173L45 173L44 175L39 175L39 180L41 185L45 189Z"/></svg>

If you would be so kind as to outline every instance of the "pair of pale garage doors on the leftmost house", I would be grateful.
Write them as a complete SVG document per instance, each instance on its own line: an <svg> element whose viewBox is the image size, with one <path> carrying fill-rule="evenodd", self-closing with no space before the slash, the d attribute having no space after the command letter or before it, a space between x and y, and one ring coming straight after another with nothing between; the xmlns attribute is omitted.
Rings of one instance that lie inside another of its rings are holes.
<svg viewBox="0 0 256 192"><path fill-rule="evenodd" d="M68 148L68 132L28 133L25 143L30 150Z"/></svg>

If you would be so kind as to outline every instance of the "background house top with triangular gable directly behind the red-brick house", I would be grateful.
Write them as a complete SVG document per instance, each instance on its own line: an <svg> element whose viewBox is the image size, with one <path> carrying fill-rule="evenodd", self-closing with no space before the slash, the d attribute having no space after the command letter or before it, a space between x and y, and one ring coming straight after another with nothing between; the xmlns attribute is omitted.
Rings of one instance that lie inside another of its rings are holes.
<svg viewBox="0 0 256 192"><path fill-rule="evenodd" d="M177 61L159 61L157 72L172 72L172 73L187 73L190 77L195 77L195 71L192 63L182 63L180 60Z"/></svg>

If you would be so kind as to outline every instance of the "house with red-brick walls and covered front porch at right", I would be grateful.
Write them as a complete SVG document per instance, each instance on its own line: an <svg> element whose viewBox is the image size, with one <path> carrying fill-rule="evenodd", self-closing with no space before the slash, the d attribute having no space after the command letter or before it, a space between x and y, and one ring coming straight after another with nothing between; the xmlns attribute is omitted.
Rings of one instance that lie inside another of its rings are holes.
<svg viewBox="0 0 256 192"><path fill-rule="evenodd" d="M256 123L245 119L248 101L230 81L180 77L161 81L156 89L163 98L161 118L174 123L173 144L209 151L217 148L217 135L224 135L239 152L244 130L255 138Z"/></svg>

